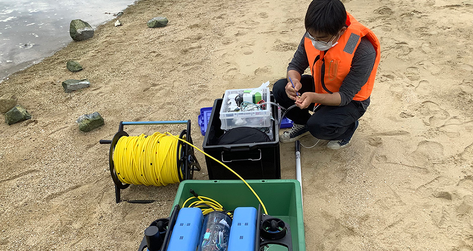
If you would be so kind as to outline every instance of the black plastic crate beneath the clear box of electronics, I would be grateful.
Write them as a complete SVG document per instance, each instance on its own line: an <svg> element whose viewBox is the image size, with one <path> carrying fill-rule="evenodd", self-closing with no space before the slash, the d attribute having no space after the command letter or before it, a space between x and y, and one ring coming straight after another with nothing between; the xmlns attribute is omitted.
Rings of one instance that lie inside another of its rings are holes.
<svg viewBox="0 0 473 251"><path fill-rule="evenodd" d="M271 95L271 99L273 99ZM217 139L223 135L220 129L220 107L223 99L215 99L207 125L202 147L204 152L213 158L223 162L233 169L244 179L281 179L281 163L279 156L279 132L277 121L279 112L275 105L272 107L272 115L275 118L271 126L273 128L273 138L271 142L215 145ZM268 104L269 105L269 104ZM207 171L210 180L234 180L238 179L224 166L205 156Z"/></svg>

